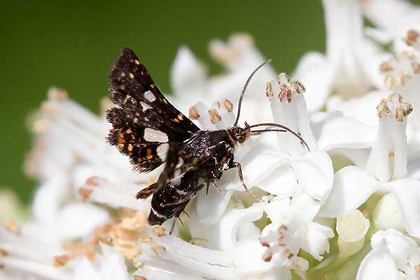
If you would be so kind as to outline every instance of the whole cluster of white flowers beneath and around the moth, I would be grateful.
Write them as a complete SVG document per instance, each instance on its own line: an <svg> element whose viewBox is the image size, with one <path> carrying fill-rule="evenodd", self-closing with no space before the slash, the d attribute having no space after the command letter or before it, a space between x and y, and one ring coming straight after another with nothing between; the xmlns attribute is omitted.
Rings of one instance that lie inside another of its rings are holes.
<svg viewBox="0 0 420 280"><path fill-rule="evenodd" d="M420 8L323 7L325 54L308 52L290 76L264 66L241 115L289 127L307 146L288 133L251 137L235 160L260 200L225 171L172 234L172 221L148 225L150 198L135 198L162 168L133 171L106 144L104 116L51 88L25 165L39 187L27 221L0 225L0 278L420 279ZM247 34L211 42L210 53L223 75L179 49L169 99L202 130L221 130L265 57Z"/></svg>

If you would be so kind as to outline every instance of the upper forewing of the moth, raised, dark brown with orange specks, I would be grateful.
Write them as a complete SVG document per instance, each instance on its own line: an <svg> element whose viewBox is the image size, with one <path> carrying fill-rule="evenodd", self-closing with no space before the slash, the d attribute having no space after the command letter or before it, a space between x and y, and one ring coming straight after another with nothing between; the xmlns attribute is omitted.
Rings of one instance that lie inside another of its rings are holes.
<svg viewBox="0 0 420 280"><path fill-rule="evenodd" d="M130 48L123 48L109 72L111 100L123 107L127 97L139 103L139 110L153 111L161 122L179 133L177 139L185 140L199 128L178 111L155 85L144 64Z"/></svg>

